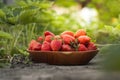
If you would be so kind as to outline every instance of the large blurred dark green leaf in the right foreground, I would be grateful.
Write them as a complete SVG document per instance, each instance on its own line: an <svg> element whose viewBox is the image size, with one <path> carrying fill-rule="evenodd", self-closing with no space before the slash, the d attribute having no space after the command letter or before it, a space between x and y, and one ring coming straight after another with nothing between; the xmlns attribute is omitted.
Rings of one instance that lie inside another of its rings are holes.
<svg viewBox="0 0 120 80"><path fill-rule="evenodd" d="M120 44L103 47L100 53L104 53L103 67L109 71L120 71Z"/></svg>

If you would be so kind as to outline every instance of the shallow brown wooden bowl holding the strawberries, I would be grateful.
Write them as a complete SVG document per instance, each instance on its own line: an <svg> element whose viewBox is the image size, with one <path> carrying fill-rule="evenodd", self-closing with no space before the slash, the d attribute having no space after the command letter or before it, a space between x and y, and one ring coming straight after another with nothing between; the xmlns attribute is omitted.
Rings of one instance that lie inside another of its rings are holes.
<svg viewBox="0 0 120 80"><path fill-rule="evenodd" d="M48 63L53 65L85 65L98 53L90 51L30 51L30 57L35 63Z"/></svg>

